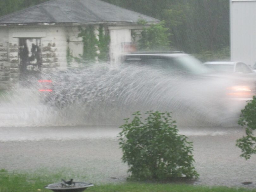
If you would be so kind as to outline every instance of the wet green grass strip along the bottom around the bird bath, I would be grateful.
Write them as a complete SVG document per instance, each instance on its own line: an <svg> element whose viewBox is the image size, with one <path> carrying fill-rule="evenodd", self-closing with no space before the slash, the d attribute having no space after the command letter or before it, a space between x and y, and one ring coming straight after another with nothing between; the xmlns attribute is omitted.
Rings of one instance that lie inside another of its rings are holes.
<svg viewBox="0 0 256 192"><path fill-rule="evenodd" d="M58 182L63 174L57 173L46 175L40 173L15 173L5 169L0 170L0 192L50 192L44 189L49 183ZM87 192L256 192L256 189L228 188L228 187L206 187L188 184L159 184L159 183L119 183L99 184L88 188Z"/></svg>

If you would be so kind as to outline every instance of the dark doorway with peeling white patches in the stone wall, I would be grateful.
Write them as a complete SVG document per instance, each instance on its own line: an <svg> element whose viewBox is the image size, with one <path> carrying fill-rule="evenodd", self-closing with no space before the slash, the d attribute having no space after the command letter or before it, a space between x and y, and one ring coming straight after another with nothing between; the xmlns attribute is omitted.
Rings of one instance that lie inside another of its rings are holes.
<svg viewBox="0 0 256 192"><path fill-rule="evenodd" d="M20 82L29 85L40 78L42 70L41 39L19 39Z"/></svg>

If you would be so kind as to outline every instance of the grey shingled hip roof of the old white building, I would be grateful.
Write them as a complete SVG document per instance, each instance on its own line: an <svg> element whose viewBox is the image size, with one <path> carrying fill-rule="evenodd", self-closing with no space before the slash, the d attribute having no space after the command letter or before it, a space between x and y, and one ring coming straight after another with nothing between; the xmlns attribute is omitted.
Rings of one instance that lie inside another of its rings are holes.
<svg viewBox="0 0 256 192"><path fill-rule="evenodd" d="M0 24L147 22L159 20L100 0L51 0L0 17Z"/></svg>

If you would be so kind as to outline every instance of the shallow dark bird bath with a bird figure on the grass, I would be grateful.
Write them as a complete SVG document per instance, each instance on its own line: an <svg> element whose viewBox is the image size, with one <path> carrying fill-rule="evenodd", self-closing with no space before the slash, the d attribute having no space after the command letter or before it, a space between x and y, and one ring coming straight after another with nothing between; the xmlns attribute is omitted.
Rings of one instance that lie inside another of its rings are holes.
<svg viewBox="0 0 256 192"><path fill-rule="evenodd" d="M45 189L51 189L54 192L82 192L92 186L94 186L94 184L85 182L72 182L71 185L61 182L46 185Z"/></svg>

